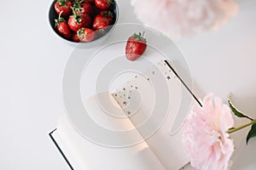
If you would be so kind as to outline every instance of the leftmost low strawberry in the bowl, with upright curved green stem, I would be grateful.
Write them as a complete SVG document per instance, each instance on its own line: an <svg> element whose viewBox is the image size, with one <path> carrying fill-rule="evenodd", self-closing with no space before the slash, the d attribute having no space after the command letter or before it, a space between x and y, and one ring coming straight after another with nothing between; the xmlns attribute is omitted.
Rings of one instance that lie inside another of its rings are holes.
<svg viewBox="0 0 256 170"><path fill-rule="evenodd" d="M59 18L55 19L55 28L62 37L69 39L71 37L71 31L69 26L67 25L66 20L61 17L62 12L63 11L61 11L61 13L59 14Z"/></svg>

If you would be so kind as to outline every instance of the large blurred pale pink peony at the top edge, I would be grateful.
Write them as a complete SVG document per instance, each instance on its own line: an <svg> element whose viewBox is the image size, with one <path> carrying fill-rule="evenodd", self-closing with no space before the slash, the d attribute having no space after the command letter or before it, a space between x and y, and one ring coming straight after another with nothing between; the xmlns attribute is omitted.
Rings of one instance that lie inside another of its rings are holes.
<svg viewBox="0 0 256 170"><path fill-rule="evenodd" d="M169 37L218 28L235 15L234 0L131 0L138 20Z"/></svg>

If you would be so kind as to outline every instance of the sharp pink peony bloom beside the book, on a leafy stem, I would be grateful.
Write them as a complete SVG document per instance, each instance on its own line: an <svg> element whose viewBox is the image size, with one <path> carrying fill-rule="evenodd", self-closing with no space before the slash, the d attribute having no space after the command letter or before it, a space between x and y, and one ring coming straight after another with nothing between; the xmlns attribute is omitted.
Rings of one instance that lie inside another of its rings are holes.
<svg viewBox="0 0 256 170"><path fill-rule="evenodd" d="M201 106L195 106L184 124L183 145L192 167L204 170L228 169L234 151L226 131L234 119L228 105L208 94Z"/></svg>

